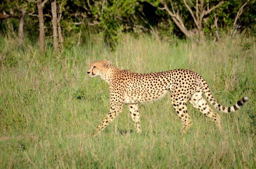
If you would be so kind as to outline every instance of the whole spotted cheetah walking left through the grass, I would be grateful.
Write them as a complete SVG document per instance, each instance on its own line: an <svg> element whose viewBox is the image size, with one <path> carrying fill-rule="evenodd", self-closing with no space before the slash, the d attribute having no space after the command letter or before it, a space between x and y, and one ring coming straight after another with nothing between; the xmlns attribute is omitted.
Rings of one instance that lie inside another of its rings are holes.
<svg viewBox="0 0 256 169"><path fill-rule="evenodd" d="M95 135L99 134L121 113L123 104L128 105L136 132L141 133L138 103L154 102L168 92L171 92L171 103L181 119L183 133L192 124L187 112L187 102L205 116L210 117L222 131L221 117L209 106L207 100L219 111L229 113L240 109L248 99L243 97L231 107L221 106L212 97L204 78L187 69L140 74L118 69L110 61L99 60L90 64L87 73L90 77L100 76L109 85L111 107L107 117L97 127ZM204 99L203 93L207 100Z"/></svg>

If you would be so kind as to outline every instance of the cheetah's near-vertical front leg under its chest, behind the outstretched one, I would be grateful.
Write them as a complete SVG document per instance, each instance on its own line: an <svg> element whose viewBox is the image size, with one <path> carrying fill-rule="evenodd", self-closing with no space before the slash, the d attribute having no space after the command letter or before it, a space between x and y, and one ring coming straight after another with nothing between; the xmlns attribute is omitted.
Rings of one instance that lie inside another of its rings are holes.
<svg viewBox="0 0 256 169"><path fill-rule="evenodd" d="M140 113L138 109L138 104L128 104L130 108L131 118L134 121L134 126L137 133L141 133L142 130L140 128Z"/></svg>

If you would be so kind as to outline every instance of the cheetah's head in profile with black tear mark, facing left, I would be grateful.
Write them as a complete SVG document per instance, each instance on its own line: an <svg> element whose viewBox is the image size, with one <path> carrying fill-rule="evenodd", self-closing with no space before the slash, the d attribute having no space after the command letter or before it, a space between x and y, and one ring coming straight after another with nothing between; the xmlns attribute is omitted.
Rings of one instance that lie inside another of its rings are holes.
<svg viewBox="0 0 256 169"><path fill-rule="evenodd" d="M100 76L105 80L106 73L108 72L109 67L111 66L111 62L107 60L99 60L90 64L90 69L87 73L90 77Z"/></svg>

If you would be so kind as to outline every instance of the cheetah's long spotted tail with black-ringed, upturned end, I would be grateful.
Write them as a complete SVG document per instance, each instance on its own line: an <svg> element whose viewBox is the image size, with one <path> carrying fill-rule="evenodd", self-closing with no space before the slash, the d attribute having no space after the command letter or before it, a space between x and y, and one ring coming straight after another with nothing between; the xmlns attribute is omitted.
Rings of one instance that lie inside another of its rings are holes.
<svg viewBox="0 0 256 169"><path fill-rule="evenodd" d="M212 93L210 92L209 86L207 85L205 80L201 81L201 87L204 91L204 95L207 97L207 100L212 104L212 106L214 106L216 109L218 109L219 111L224 112L224 113L235 112L237 109L240 109L241 106L243 106L244 103L248 100L248 97L243 97L241 100L238 100L234 106L224 107L224 106L221 106L212 97Z"/></svg>

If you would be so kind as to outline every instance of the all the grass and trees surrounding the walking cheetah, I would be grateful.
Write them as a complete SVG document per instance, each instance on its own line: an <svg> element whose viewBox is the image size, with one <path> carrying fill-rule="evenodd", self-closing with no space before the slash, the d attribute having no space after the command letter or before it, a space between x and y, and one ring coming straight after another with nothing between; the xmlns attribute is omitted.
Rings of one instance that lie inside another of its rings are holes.
<svg viewBox="0 0 256 169"><path fill-rule="evenodd" d="M2 0L0 168L256 168L255 0ZM188 105L181 123L166 96L127 106L91 137L109 109L92 61L120 69L192 69L224 106L214 123Z"/></svg>

